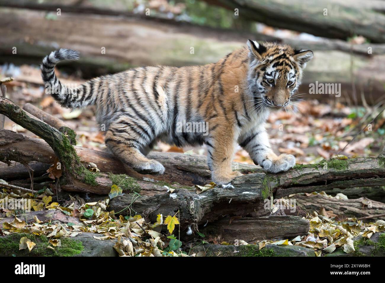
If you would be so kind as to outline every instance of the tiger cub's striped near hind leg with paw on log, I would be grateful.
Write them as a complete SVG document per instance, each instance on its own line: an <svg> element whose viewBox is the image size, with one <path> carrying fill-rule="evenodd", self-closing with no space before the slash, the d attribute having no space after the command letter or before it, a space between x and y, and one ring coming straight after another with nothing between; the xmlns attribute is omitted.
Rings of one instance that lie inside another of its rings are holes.
<svg viewBox="0 0 385 283"><path fill-rule="evenodd" d="M105 135L106 146L122 162L141 174L163 174L164 167L156 160L146 158L141 149L151 141L141 136L135 124L113 124Z"/></svg>

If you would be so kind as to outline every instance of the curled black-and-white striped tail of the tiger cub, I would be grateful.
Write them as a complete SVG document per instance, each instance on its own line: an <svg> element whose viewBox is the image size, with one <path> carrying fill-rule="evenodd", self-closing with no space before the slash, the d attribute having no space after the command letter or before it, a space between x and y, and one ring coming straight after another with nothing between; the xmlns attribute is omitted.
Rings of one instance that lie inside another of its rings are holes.
<svg viewBox="0 0 385 283"><path fill-rule="evenodd" d="M61 48L52 51L45 56L41 65L42 78L45 83L47 94L64 107L80 108L95 103L95 99L90 99L92 96L92 81L82 85L74 85L67 87L60 82L55 75L55 65L61 60L78 60L79 52L72 49ZM96 96L96 95L94 95Z"/></svg>

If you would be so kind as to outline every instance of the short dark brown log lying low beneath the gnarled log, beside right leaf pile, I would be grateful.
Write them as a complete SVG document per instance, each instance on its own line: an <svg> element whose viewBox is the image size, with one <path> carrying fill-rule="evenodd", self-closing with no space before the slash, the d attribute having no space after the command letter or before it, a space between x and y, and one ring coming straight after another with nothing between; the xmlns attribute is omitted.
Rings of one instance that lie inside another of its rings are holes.
<svg viewBox="0 0 385 283"><path fill-rule="evenodd" d="M308 233L310 222L300 216L264 216L219 219L200 228L206 236L221 236L223 241L234 243L243 240L255 243L264 239L292 239Z"/></svg>

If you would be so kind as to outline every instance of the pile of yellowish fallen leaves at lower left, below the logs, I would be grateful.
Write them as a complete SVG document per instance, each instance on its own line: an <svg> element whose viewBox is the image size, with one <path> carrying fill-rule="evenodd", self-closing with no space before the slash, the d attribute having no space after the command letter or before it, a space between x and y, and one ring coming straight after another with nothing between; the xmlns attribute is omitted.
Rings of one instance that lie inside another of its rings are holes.
<svg viewBox="0 0 385 283"><path fill-rule="evenodd" d="M120 189L121 190L121 189ZM112 188L110 197L119 194L119 188ZM70 201L65 201L62 206L52 202L52 192L45 189L44 192L37 194L21 193L18 190L3 189L2 199L25 198L33 204L34 211L40 210L60 210L62 213L79 218L78 223L60 223L55 221L40 221L37 216L33 221L25 221L15 217L12 221L5 221L2 224L1 234L30 233L37 236L45 235L49 238L49 249L55 249L61 245L60 237L75 237L83 232L95 233L94 239L114 240L115 250L120 256L186 256L180 250L181 241L172 233L175 230L179 219L176 215L168 215L163 219L162 214L157 215L154 224L146 223L140 215L117 217L114 211L106 211L109 198L86 203L79 196L70 196ZM133 197L137 197L133 194ZM41 199L41 200L40 200ZM27 209L27 207L25 208ZM2 209L3 218L14 216L15 210ZM57 222L57 223L56 223ZM161 233L162 226L167 226L170 236ZM35 243L27 237L20 239L20 250L33 249Z"/></svg>

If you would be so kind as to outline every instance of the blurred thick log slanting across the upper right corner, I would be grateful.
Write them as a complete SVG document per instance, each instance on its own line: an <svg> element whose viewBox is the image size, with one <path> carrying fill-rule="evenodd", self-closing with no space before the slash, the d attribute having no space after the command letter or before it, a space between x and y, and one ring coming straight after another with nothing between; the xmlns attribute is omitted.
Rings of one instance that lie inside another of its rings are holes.
<svg viewBox="0 0 385 283"><path fill-rule="evenodd" d="M355 34L372 42L385 42L385 3L340 0L205 0L229 10L239 9L239 17L272 27L307 32L321 37L347 39ZM325 10L327 9L327 15Z"/></svg>

